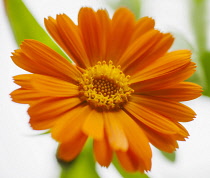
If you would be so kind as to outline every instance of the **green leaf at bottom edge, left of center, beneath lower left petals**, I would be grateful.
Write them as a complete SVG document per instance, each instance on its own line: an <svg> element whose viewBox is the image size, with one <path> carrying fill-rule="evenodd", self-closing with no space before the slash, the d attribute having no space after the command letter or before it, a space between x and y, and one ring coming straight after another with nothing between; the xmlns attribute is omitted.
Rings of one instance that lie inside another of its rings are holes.
<svg viewBox="0 0 210 178"><path fill-rule="evenodd" d="M80 155L71 162L58 160L61 166L60 178L99 178L91 145L92 142L89 140Z"/></svg>

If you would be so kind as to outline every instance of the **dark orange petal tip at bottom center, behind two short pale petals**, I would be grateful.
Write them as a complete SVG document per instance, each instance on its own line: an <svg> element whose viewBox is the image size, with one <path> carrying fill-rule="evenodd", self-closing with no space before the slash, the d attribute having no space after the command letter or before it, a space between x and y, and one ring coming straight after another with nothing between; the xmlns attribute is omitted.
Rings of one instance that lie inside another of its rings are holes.
<svg viewBox="0 0 210 178"><path fill-rule="evenodd" d="M96 161L101 166L108 167L112 161L113 151L109 146L107 138L94 140L93 149Z"/></svg>

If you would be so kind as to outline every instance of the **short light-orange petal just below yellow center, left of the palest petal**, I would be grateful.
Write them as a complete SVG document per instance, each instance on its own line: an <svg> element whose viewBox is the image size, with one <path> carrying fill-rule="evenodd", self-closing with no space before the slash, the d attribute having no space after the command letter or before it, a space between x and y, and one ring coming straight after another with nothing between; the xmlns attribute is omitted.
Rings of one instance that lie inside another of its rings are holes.
<svg viewBox="0 0 210 178"><path fill-rule="evenodd" d="M82 126L82 131L96 140L101 140L104 137L104 118L101 112L92 110L86 116L86 120Z"/></svg>

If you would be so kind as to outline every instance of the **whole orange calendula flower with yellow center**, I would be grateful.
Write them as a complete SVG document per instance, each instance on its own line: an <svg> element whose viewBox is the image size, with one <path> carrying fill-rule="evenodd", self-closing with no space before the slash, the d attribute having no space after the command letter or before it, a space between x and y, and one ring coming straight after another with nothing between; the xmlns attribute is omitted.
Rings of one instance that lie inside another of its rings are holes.
<svg viewBox="0 0 210 178"><path fill-rule="evenodd" d="M21 88L11 96L29 104L33 129L50 129L59 158L74 159L90 137L100 165L116 153L125 170L144 172L151 169L150 143L173 152L189 136L179 122L195 112L180 102L201 95L200 86L185 82L195 63L189 50L167 52L173 37L155 30L153 19L136 21L126 8L112 18L81 8L78 25L65 14L45 25L73 63L25 40L12 59L32 74L14 77Z"/></svg>

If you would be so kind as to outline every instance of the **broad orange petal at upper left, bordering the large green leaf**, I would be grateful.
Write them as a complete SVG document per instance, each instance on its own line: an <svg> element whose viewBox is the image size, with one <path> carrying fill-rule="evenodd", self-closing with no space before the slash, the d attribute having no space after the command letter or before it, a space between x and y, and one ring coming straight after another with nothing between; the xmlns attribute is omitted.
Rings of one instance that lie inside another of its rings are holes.
<svg viewBox="0 0 210 178"><path fill-rule="evenodd" d="M79 70L68 60L36 40L25 40L21 49L13 53L12 60L31 73L50 75L72 82L80 76Z"/></svg>

